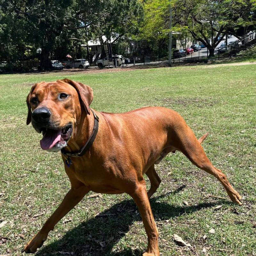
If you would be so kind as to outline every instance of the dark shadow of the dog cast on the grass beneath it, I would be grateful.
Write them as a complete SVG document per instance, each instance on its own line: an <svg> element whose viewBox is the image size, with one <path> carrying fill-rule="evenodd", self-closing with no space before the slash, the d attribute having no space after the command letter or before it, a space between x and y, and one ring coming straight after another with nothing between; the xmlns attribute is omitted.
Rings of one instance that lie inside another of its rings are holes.
<svg viewBox="0 0 256 256"><path fill-rule="evenodd" d="M187 207L172 206L158 201L164 196L166 195L150 199L156 221L169 220L186 212L195 212L220 204L215 202ZM134 201L122 201L100 213L98 217L82 222L61 239L42 247L36 255L139 256L142 251L130 248L122 252L112 251L113 246L129 231L132 223L138 220L141 221L141 217ZM127 245L129 246L129 243Z"/></svg>

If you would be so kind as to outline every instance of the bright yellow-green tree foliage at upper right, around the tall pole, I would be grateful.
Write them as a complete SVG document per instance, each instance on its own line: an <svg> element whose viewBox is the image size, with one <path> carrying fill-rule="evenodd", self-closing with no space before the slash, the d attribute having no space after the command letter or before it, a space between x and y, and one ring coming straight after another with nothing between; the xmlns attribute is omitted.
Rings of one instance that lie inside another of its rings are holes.
<svg viewBox="0 0 256 256"><path fill-rule="evenodd" d="M216 47L226 31L241 36L255 28L255 0L146 0L140 26L141 40L156 45L168 39L170 3L174 38L193 37L208 49Z"/></svg>

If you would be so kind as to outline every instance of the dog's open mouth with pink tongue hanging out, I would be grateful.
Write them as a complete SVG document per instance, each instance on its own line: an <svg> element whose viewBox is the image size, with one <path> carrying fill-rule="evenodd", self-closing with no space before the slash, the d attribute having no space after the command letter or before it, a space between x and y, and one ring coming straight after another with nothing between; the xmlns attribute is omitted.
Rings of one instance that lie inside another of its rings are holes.
<svg viewBox="0 0 256 256"><path fill-rule="evenodd" d="M72 135L72 124L68 124L61 130L54 130L50 128L43 128L43 139L40 140L40 146L44 150L60 150L67 146L67 142ZM55 151L54 150L54 151Z"/></svg>

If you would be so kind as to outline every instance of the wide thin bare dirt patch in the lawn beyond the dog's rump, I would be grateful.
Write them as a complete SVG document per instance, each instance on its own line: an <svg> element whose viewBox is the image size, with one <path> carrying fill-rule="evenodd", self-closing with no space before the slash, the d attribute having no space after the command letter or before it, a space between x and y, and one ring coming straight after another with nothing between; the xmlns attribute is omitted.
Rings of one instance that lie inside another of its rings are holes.
<svg viewBox="0 0 256 256"><path fill-rule="evenodd" d="M219 101L214 100L212 98L208 99L201 99L201 98L178 98L178 99L172 99L172 98L165 98L161 100L164 102L166 106L172 106L172 105L182 105L184 107L187 107L188 105L193 105L198 108L203 107L211 107L216 105Z"/></svg>

